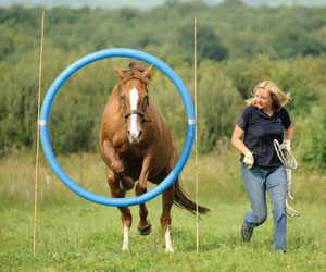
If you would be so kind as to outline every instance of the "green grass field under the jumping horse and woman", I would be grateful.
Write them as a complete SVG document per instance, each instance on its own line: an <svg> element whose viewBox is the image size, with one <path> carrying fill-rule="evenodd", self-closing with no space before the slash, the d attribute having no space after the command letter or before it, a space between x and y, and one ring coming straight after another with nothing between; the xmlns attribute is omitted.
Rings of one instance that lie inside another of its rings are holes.
<svg viewBox="0 0 326 272"><path fill-rule="evenodd" d="M76 182L109 195L98 154L59 157ZM298 170L292 203L302 217L288 219L288 252L271 252L272 212L243 243L239 230L250 203L239 176L238 153L218 150L199 159L200 203L212 209L199 222L172 210L175 254L165 254L160 228L161 197L148 202L152 233L138 235L138 207L131 207L131 252L122 252L123 228L116 208L103 207L71 193L41 157L37 254L33 257L34 158L15 152L0 161L0 271L326 271L326 181ZM195 199L193 158L183 172L184 188Z"/></svg>

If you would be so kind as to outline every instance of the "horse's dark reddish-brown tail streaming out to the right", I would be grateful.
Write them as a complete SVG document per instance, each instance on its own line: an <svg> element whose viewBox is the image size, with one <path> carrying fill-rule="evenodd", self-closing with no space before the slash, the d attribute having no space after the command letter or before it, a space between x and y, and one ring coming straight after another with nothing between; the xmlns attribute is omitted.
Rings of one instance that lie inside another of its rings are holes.
<svg viewBox="0 0 326 272"><path fill-rule="evenodd" d="M192 214L196 214L196 203L187 197L187 194L183 190L179 180L175 181L175 193L174 193L174 203L183 209L190 211ZM203 206L198 206L198 212L205 214L211 210Z"/></svg>

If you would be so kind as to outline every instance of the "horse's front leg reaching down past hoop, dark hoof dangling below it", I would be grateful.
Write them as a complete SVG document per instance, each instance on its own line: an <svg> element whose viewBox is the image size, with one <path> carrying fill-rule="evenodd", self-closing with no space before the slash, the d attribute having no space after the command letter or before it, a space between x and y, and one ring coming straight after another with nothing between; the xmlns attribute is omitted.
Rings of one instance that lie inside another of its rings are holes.
<svg viewBox="0 0 326 272"><path fill-rule="evenodd" d="M139 176L139 182L136 186L136 195L142 195L147 191L147 178L149 174L149 168L151 163L151 157L148 156L143 159L142 168ZM147 220L148 209L146 203L139 205L139 224L137 231L140 235L148 235L150 234L152 227L149 220Z"/></svg>

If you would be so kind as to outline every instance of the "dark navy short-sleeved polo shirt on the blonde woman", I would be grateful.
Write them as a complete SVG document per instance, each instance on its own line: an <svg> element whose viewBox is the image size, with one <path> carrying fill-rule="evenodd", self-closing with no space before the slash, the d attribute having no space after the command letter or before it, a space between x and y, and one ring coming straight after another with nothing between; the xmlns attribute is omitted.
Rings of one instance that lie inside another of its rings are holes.
<svg viewBox="0 0 326 272"><path fill-rule="evenodd" d="M291 125L290 115L285 108L268 116L261 109L249 106L242 111L237 125L244 131L243 143L253 153L255 165L277 166L281 164L273 140L277 139L281 144L284 129ZM242 159L243 154L241 154Z"/></svg>

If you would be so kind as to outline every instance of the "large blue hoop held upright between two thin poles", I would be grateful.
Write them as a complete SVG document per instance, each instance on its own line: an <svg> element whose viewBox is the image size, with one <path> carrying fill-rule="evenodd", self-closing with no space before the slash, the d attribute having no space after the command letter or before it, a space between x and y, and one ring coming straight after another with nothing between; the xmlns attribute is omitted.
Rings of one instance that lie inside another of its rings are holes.
<svg viewBox="0 0 326 272"><path fill-rule="evenodd" d="M171 173L165 177L165 180L160 183L158 186L152 188L151 190L147 191L143 195L135 196L135 197L126 197L126 198L111 198L111 197L104 197L97 195L95 193L91 193L89 190L86 190L78 184L76 184L60 166L58 163L49 139L49 129L48 129L48 120L49 120L49 112L52 104L52 101L54 99L54 96L57 95L58 90L62 86L62 84L76 71L84 67L85 65L113 57L124 57L124 58L134 58L141 61L145 61L149 64L154 64L155 67L158 67L161 72L163 72L176 86L186 109L186 115L187 115L187 133L186 133L186 139L183 148L183 152L174 166L174 169L171 171ZM105 205L105 206L115 206L115 207L125 207L125 206L133 206L133 205L139 205L143 203L158 195L162 194L170 185L173 184L175 178L179 175L181 170L184 169L193 143L195 137L195 126L196 126L196 118L193 112L193 106L191 98L189 96L189 92L180 79L180 77L164 62L156 59L155 57L134 50L134 49L127 49L127 48L113 48L113 49L105 49L98 52L93 52L91 54L88 54L78 61L71 64L68 67L66 67L52 83L51 87L49 88L47 96L45 97L41 113L40 113L40 120L38 121L38 125L40 128L40 140L42 145L42 149L45 152L45 156L55 173L55 175L62 181L62 183L67 186L71 190L79 195L80 197L84 197L87 200Z"/></svg>

